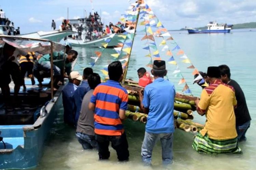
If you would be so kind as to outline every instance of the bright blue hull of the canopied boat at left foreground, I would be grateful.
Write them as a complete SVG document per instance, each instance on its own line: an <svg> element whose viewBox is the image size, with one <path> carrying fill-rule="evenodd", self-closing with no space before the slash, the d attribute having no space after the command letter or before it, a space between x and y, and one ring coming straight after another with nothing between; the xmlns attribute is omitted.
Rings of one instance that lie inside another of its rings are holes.
<svg viewBox="0 0 256 170"><path fill-rule="evenodd" d="M39 117L34 124L0 126L3 140L12 137L16 138L14 140L20 140L19 143L23 143L23 145L15 146L13 149L0 149L0 169L24 169L38 165L43 155L44 142L48 137L59 108L62 107L61 91L62 86L54 96L55 102L50 101L46 105L46 116ZM6 137L6 135L9 136Z"/></svg>

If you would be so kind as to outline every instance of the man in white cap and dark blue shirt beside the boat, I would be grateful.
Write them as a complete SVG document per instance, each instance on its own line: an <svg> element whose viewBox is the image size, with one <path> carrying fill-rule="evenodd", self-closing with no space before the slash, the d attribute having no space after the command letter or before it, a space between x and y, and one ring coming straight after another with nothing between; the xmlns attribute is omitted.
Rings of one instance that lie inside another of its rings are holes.
<svg viewBox="0 0 256 170"><path fill-rule="evenodd" d="M62 103L64 108L64 122L72 126L75 125L75 103L74 92L83 80L82 75L77 71L72 71L69 74L69 82L62 90Z"/></svg>

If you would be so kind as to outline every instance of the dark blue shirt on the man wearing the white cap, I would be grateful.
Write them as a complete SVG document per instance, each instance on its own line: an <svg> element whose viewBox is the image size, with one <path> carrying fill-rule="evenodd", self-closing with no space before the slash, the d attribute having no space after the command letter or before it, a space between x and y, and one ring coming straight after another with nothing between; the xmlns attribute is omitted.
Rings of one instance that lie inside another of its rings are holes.
<svg viewBox="0 0 256 170"><path fill-rule="evenodd" d="M74 92L77 86L73 83L68 82L68 84L62 90L62 103L64 108L64 122L74 125L74 112L75 112L75 102L74 102Z"/></svg>

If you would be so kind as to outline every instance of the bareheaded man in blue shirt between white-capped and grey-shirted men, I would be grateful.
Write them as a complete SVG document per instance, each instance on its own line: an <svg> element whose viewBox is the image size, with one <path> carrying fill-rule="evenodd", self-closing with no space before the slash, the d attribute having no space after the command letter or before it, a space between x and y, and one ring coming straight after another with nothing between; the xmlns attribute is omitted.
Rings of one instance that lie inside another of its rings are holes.
<svg viewBox="0 0 256 170"><path fill-rule="evenodd" d="M77 120L80 115L80 110L81 110L81 105L82 105L84 95L90 90L87 78L92 73L93 73L92 68L89 68L89 67L85 68L83 72L83 81L75 90L75 93L74 93L74 100L75 100L75 106L76 106L75 124L77 124Z"/></svg>

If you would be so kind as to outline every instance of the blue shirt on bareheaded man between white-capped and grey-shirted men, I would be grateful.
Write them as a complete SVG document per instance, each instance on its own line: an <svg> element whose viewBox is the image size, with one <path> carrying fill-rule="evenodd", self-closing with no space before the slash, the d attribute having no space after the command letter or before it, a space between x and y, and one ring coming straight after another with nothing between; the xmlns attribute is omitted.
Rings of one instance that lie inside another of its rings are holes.
<svg viewBox="0 0 256 170"><path fill-rule="evenodd" d="M81 105L82 105L84 95L89 90L90 90L90 87L89 87L88 81L83 80L82 83L77 87L77 89L74 92L74 100L75 100L75 106L76 106L75 123L77 122L80 115L80 110L81 110Z"/></svg>

